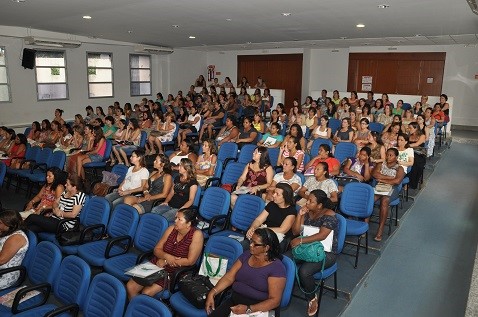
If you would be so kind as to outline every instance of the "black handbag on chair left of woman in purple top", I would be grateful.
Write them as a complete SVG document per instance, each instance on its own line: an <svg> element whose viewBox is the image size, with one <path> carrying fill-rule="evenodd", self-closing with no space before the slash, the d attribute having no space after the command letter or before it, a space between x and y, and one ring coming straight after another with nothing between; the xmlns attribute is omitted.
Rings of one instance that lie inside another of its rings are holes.
<svg viewBox="0 0 478 317"><path fill-rule="evenodd" d="M179 290L196 308L206 306L207 294L214 287L207 276L189 272L179 280Z"/></svg>

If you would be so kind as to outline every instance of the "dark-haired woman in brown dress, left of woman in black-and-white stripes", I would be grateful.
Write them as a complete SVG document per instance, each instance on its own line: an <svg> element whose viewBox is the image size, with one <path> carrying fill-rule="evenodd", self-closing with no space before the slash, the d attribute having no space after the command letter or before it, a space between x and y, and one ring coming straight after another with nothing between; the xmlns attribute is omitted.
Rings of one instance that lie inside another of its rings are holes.
<svg viewBox="0 0 478 317"><path fill-rule="evenodd" d="M43 185L38 194L26 204L25 211L20 213L22 218L25 219L33 213L40 215L45 211L51 211L51 209L53 209L53 203L59 199L65 191L65 187L63 186L65 181L62 170L58 167L49 168L46 172L45 185Z"/></svg>

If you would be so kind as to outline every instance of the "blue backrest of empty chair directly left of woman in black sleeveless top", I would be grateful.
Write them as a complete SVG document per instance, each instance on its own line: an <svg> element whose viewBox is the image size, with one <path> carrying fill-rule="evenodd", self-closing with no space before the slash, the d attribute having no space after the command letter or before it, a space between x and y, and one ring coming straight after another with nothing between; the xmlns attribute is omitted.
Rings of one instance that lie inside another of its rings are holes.
<svg viewBox="0 0 478 317"><path fill-rule="evenodd" d="M231 225L246 231L264 208L265 202L261 197L248 194L239 195L232 210Z"/></svg>

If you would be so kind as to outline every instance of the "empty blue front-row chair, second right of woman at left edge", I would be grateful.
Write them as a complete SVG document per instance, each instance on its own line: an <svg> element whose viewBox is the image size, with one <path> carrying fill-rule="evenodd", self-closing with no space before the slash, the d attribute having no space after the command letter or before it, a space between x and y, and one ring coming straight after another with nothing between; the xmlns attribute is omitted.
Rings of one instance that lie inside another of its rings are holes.
<svg viewBox="0 0 478 317"><path fill-rule="evenodd" d="M45 316L58 308L56 303L82 305L90 285L90 278L90 266L84 260L75 255L67 256L61 263L53 284L54 299L49 299L49 304L29 309L15 316Z"/></svg>

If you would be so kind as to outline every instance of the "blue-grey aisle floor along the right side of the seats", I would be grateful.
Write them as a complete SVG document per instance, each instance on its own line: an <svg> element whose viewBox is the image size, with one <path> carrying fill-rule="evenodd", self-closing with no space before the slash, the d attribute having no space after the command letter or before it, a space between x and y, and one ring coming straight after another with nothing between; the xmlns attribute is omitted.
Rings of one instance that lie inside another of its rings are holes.
<svg viewBox="0 0 478 317"><path fill-rule="evenodd" d="M478 241L478 146L453 143L342 316L463 316Z"/></svg>

